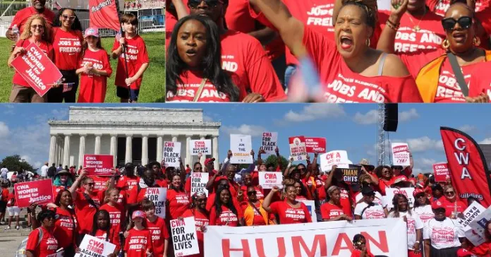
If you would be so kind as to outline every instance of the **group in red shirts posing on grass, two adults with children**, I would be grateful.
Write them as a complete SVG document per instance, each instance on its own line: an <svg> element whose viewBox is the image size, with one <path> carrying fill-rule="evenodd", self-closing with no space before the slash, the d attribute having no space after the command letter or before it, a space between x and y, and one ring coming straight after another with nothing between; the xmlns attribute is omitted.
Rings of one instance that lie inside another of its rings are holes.
<svg viewBox="0 0 491 257"><path fill-rule="evenodd" d="M15 42L8 66L13 68L12 61L34 43L54 62L63 77L41 96L16 71L9 102L104 102L107 78L113 70L98 29L87 28L83 32L73 9L61 8L55 14L45 4L45 0L32 0L32 6L13 17L6 31L6 37ZM143 73L149 65L147 48L137 33L135 15L123 14L121 26L123 36L116 35L110 52L113 59L118 59L116 95L121 102L137 102ZM126 48L126 59L123 48Z"/></svg>

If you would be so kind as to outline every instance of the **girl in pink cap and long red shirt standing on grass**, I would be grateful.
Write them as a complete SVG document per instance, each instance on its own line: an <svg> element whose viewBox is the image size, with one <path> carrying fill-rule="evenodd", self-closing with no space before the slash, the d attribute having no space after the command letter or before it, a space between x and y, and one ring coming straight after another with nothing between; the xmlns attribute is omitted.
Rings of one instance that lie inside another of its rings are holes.
<svg viewBox="0 0 491 257"><path fill-rule="evenodd" d="M78 102L104 102L107 78L111 76L112 68L109 55L102 48L97 28L85 30L82 52L83 56L78 64L80 68L76 71L81 74Z"/></svg>

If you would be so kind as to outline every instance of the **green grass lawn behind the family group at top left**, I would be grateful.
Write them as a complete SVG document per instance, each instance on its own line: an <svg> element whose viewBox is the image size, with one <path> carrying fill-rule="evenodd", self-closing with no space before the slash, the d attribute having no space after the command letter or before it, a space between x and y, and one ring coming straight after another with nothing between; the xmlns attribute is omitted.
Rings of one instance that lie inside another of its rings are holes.
<svg viewBox="0 0 491 257"><path fill-rule="evenodd" d="M164 102L165 88L165 58L164 58L164 33L142 34L147 44L147 52L150 58L150 66L143 73L143 85L140 88L138 102ZM102 38L102 47L108 52L112 49L114 37ZM8 68L7 61L10 54L12 42L6 38L0 38L0 102L8 102L12 88L13 69ZM106 102L119 102L116 97L116 62L111 59L113 75L107 81Z"/></svg>

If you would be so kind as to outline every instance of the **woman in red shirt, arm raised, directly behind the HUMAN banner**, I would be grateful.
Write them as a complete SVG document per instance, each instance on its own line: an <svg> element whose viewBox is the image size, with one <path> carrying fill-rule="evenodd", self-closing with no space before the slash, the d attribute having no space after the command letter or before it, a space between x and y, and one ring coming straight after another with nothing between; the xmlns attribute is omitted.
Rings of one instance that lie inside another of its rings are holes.
<svg viewBox="0 0 491 257"><path fill-rule="evenodd" d="M268 213L279 215L279 224L312 222L307 206L302 202L296 201L295 186L285 185L284 190L285 200L271 203L274 194L279 191L279 188L274 186L267 194L265 201L262 202L262 208Z"/></svg>

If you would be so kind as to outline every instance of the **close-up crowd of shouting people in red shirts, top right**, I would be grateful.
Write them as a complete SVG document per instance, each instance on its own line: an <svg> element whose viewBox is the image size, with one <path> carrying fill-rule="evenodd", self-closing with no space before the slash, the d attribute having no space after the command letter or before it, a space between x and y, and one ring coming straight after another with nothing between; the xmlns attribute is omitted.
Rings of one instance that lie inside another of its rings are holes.
<svg viewBox="0 0 491 257"><path fill-rule="evenodd" d="M167 1L166 100L489 102L488 2Z"/></svg>

